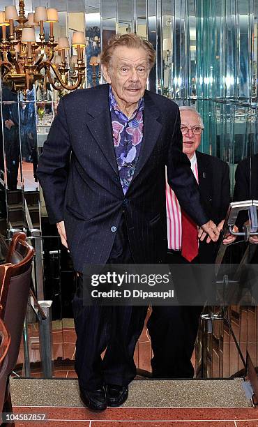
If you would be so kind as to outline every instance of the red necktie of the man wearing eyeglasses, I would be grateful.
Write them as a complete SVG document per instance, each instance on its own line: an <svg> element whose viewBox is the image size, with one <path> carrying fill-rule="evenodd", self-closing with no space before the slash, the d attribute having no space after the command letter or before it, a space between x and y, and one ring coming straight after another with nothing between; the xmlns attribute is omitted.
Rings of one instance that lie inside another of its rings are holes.
<svg viewBox="0 0 258 427"><path fill-rule="evenodd" d="M182 223L182 241L181 241L181 255L191 262L198 255L198 229L197 225L190 216L181 211Z"/></svg>

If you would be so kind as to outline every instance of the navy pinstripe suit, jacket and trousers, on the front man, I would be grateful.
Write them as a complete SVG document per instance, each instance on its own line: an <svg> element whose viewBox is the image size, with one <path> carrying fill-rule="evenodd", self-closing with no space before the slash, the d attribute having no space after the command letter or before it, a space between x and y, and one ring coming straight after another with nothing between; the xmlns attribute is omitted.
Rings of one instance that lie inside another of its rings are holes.
<svg viewBox="0 0 258 427"><path fill-rule="evenodd" d="M165 261L165 165L183 209L199 225L208 221L190 162L182 153L179 108L149 91L144 93L142 149L123 195L108 91L109 85L103 84L61 98L38 162L50 222L64 220L70 255L79 272L84 264L110 260ZM98 389L103 381L128 384L135 375L133 352L146 308L85 307L81 293L78 283L73 309L79 384L85 389Z"/></svg>

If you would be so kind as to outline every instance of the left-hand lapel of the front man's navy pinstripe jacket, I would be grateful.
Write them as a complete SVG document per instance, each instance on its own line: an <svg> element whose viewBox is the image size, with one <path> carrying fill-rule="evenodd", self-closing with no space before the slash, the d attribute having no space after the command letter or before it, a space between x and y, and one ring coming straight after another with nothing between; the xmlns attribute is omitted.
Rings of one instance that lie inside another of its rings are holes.
<svg viewBox="0 0 258 427"><path fill-rule="evenodd" d="M106 90L105 90L106 89ZM96 96L92 107L98 106L98 110L88 110L89 118L86 120L91 135L96 140L101 151L107 158L108 163L114 169L116 174L119 170L116 163L116 154L114 151L112 122L109 111L108 100L109 84L103 85L103 88L96 89ZM91 106L90 106L91 107Z"/></svg>

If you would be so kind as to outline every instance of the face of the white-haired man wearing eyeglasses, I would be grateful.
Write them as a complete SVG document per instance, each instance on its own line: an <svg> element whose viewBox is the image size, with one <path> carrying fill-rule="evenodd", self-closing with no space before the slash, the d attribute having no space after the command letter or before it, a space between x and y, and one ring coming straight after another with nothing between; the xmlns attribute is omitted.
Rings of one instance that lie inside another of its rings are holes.
<svg viewBox="0 0 258 427"><path fill-rule="evenodd" d="M199 135L196 135L193 130L201 128L202 125L199 122L199 117L194 111L190 110L181 110L181 129L188 128L187 132L184 134L183 131L183 153L185 153L188 158L192 158L195 151L198 149L199 144L202 140L202 132ZM192 128L194 128L192 130ZM200 131L200 129L199 129Z"/></svg>

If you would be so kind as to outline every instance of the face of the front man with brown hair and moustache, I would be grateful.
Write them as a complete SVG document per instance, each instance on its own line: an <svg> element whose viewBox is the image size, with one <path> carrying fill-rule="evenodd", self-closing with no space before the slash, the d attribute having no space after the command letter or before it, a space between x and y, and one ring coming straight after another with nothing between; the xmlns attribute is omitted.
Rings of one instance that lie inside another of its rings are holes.
<svg viewBox="0 0 258 427"><path fill-rule="evenodd" d="M142 47L139 49L116 47L108 68L103 66L103 75L106 82L111 84L118 104L137 103L144 96L149 77L146 51Z"/></svg>

